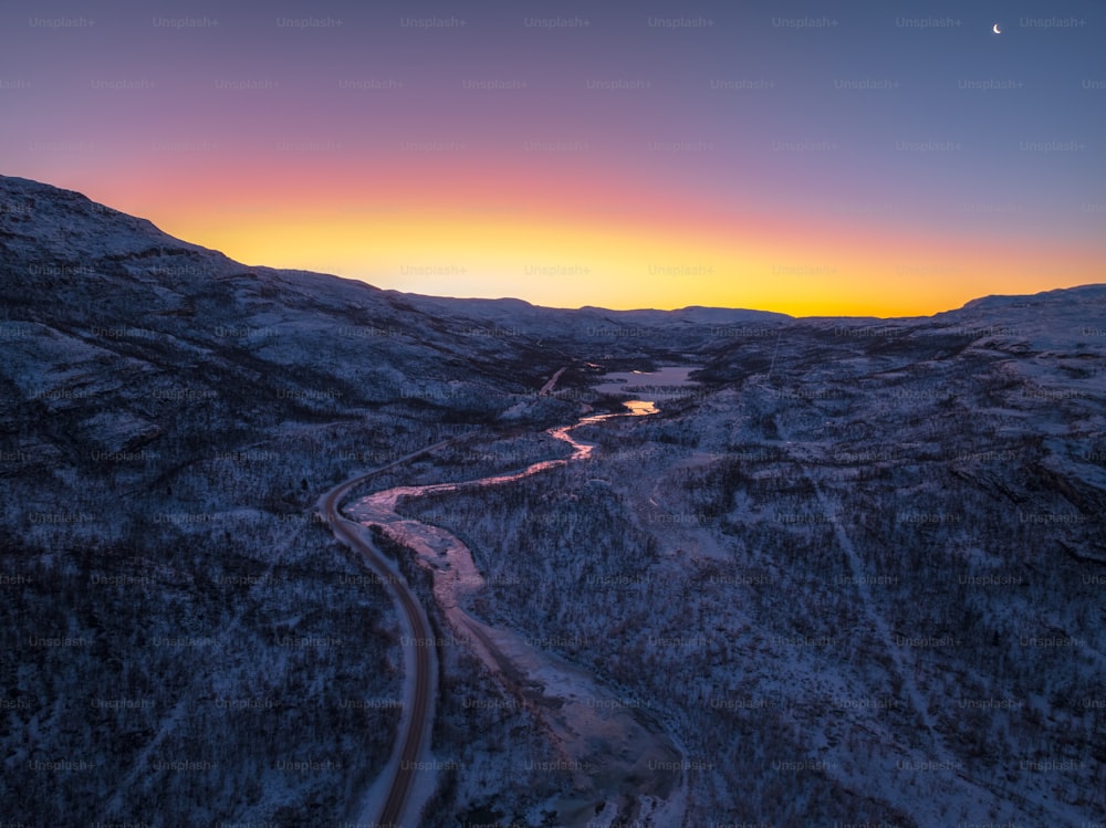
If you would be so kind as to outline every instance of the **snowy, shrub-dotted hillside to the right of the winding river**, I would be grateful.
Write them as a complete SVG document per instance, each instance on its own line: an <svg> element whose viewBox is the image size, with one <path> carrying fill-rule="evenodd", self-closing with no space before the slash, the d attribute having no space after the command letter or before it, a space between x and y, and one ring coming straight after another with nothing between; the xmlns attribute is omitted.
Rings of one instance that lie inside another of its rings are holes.
<svg viewBox="0 0 1106 828"><path fill-rule="evenodd" d="M588 463L405 513L679 734L690 825L1094 825L1104 319L1087 285L789 321Z"/></svg>

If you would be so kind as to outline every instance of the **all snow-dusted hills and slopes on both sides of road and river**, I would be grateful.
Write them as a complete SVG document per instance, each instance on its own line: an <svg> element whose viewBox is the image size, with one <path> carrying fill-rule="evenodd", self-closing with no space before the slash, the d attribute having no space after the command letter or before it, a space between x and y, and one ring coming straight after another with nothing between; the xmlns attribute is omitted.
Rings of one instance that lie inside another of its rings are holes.
<svg viewBox="0 0 1106 828"><path fill-rule="evenodd" d="M602 374L685 365L659 413L581 425L586 461L399 501L549 659L439 648L426 824L559 824L570 667L680 746L685 825L1093 824L1104 319L1106 285L899 319L418 296L0 177L4 815L349 819L404 636L319 495L447 439L373 486L563 459L546 429L619 410Z"/></svg>

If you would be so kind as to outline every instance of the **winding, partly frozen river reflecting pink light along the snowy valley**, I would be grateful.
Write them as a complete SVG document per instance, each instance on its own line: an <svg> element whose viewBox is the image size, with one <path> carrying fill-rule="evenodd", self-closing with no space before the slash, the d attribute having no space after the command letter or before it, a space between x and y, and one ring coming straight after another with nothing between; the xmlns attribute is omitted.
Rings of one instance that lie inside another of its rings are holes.
<svg viewBox="0 0 1106 828"><path fill-rule="evenodd" d="M411 551L418 564L432 573L435 601L452 635L463 640L508 691L520 696L547 724L564 756L563 763L549 769L565 773L571 779L571 795L546 805L556 809L561 825L604 826L615 820L679 825L685 799L685 778L678 772L682 752L656 720L626 704L578 665L534 646L514 630L490 627L477 618L472 599L483 588L484 579L471 551L446 530L406 518L396 509L403 499L503 485L586 460L595 446L577 440L573 431L615 417L657 413L656 401L665 395L648 395L654 399L641 396L624 402L625 412L591 415L571 426L550 429L550 436L572 448L568 458L461 483L395 486L356 500L343 510L364 526L379 526ZM596 810L596 803L604 804L602 810Z"/></svg>

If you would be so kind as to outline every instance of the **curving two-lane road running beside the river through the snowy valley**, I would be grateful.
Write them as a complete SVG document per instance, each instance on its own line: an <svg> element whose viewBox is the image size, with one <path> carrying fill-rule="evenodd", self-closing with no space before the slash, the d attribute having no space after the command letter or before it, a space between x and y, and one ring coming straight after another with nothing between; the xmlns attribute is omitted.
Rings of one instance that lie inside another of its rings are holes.
<svg viewBox="0 0 1106 828"><path fill-rule="evenodd" d="M435 683L438 673L438 653L435 649L434 633L427 621L426 611L418 599L411 593L410 587L393 573L383 553L376 545L363 536L361 526L346 520L338 512L338 504L352 489L359 485L369 478L382 472L401 465L415 458L421 457L444 446L448 446L458 438L450 438L440 442L427 446L424 449L406 454L387 465L382 465L361 476L347 480L332 489L320 501L323 517L334 531L335 536L356 552L364 564L379 577L380 583L392 593L392 598L396 607L407 619L410 629L414 647L414 664L407 681L413 685L406 698L411 700L410 709L406 715L400 717L399 730L396 735L396 746L393 750L392 761L388 769L393 773L393 778L387 786L387 794L384 798L384 807L378 815L358 815L358 821L379 826L400 826L404 818L404 809L411 793L415 777L418 774L420 754L422 751L424 736L430 732L434 723L434 696ZM366 820L364 817L368 817Z"/></svg>

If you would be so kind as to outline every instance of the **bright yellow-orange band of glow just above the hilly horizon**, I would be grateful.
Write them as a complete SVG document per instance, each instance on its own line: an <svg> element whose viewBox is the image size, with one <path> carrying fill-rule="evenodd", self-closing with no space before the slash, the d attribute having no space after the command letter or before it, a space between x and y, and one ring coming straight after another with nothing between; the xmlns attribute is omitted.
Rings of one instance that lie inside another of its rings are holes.
<svg viewBox="0 0 1106 828"><path fill-rule="evenodd" d="M170 217L163 229L248 264L334 273L409 293L512 296L552 307L708 305L793 316L918 316L990 293L1034 293L1100 279L1089 256L948 243L939 252L921 242L839 233L835 239L828 232L783 245L783 228L720 239L625 220L599 229L560 217L494 213L274 210L228 218Z"/></svg>

